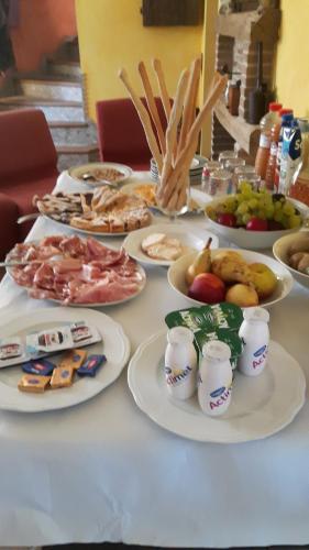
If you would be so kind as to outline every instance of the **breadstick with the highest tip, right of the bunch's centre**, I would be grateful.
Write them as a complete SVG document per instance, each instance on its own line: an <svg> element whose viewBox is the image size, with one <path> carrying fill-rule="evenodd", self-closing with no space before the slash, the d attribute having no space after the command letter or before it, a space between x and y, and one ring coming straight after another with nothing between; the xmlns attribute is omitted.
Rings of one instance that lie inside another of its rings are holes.
<svg viewBox="0 0 309 550"><path fill-rule="evenodd" d="M181 148L184 148L188 132L192 125L196 110L196 99L198 92L198 85L200 78L201 59L197 57L190 68L190 79L186 94L183 124L180 129L180 138L178 143L177 154L179 155Z"/></svg>

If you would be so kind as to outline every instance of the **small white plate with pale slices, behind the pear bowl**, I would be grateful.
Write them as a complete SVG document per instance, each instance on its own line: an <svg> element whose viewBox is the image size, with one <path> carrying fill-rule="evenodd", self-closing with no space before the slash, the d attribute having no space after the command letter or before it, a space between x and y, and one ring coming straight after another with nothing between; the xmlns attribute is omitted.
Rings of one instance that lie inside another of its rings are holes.
<svg viewBox="0 0 309 550"><path fill-rule="evenodd" d="M129 234L123 248L141 263L169 266L184 254L202 250L209 238L211 249L217 249L218 237L209 231L188 230L181 223L156 223Z"/></svg>

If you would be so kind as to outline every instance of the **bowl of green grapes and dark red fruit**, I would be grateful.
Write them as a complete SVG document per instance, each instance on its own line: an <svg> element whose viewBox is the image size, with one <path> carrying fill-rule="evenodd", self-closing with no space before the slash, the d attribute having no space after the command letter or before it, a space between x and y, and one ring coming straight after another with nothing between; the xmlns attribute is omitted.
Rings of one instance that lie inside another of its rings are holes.
<svg viewBox="0 0 309 550"><path fill-rule="evenodd" d="M253 191L246 183L240 193L207 204L209 226L243 249L268 249L280 237L298 231L309 209L282 194Z"/></svg>

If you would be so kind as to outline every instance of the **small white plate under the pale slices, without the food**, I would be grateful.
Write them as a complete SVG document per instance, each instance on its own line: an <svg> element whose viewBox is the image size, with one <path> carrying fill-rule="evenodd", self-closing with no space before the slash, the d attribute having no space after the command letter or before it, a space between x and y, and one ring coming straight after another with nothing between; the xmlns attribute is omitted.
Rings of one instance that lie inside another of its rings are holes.
<svg viewBox="0 0 309 550"><path fill-rule="evenodd" d="M202 250L210 237L212 238L211 249L218 249L219 245L218 237L209 231L198 231L196 229L189 230L188 226L180 223L158 223L151 228L143 228L139 231L134 231L123 241L123 246L131 257L148 265L169 266L174 263L173 261L154 260L142 251L141 245L143 239L152 233L165 233L170 239L178 239L184 246L183 255Z"/></svg>

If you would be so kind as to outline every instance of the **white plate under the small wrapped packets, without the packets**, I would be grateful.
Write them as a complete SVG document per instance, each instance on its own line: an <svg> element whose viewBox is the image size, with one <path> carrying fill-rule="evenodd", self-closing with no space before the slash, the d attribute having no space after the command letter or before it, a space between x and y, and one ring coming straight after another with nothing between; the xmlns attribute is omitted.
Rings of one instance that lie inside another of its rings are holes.
<svg viewBox="0 0 309 550"><path fill-rule="evenodd" d="M48 308L18 315L9 321L0 322L1 338L11 334L24 334L30 330L42 330L44 327L66 321L85 320L99 330L102 342L87 348L88 354L104 353L106 364L99 369L96 377L75 378L68 388L47 389L43 394L26 394L18 389L18 382L23 375L21 365L0 370L0 409L22 413L62 409L86 402L112 384L121 374L130 356L130 341L121 324L110 317L91 309ZM52 361L54 358L52 359Z"/></svg>

